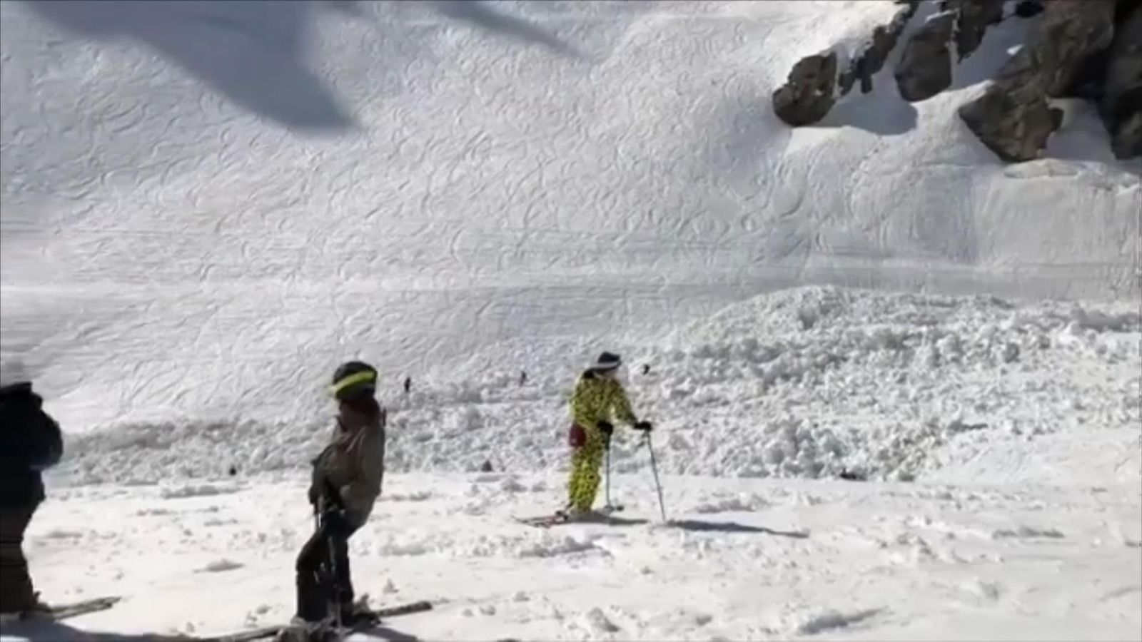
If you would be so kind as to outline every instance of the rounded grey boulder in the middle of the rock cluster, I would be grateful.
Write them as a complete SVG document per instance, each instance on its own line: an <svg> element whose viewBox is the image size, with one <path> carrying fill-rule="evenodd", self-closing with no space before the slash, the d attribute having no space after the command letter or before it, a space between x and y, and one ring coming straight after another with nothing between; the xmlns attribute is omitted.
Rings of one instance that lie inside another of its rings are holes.
<svg viewBox="0 0 1142 642"><path fill-rule="evenodd" d="M951 87L949 45L955 24L955 11L936 14L908 39L893 72L906 101L926 101Z"/></svg>

